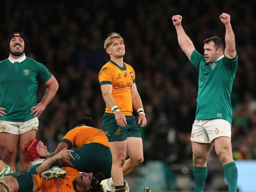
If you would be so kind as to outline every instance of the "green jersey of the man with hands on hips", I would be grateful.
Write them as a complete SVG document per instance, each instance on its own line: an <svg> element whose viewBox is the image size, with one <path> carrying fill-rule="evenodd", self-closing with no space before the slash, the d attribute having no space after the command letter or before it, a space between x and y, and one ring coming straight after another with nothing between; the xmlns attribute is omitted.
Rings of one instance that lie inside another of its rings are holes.
<svg viewBox="0 0 256 192"><path fill-rule="evenodd" d="M24 56L18 60L12 63L7 58L0 62L0 107L6 108L6 115L0 116L3 121L24 122L34 118L30 109L37 105L38 80L45 83L52 76L33 59Z"/></svg>

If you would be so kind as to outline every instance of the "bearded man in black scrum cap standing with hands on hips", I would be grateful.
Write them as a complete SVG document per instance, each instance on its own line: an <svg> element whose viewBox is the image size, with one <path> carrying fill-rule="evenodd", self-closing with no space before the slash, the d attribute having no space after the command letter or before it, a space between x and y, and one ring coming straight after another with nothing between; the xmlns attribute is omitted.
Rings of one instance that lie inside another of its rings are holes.
<svg viewBox="0 0 256 192"><path fill-rule="evenodd" d="M9 58L0 62L0 145L2 160L13 171L17 151L20 171L31 166L24 155L24 145L35 139L38 117L58 90L58 82L41 63L26 57L25 38L12 33L8 38ZM37 104L37 84L42 81L47 89Z"/></svg>

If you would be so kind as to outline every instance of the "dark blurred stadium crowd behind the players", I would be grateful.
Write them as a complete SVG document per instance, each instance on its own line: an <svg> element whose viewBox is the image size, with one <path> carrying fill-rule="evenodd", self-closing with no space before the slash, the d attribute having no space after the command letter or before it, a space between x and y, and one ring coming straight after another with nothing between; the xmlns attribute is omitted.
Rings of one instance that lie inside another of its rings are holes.
<svg viewBox="0 0 256 192"><path fill-rule="evenodd" d="M191 162L190 131L195 119L198 72L178 46L171 17L182 14L195 48L213 35L224 39L219 22L223 12L232 17L239 63L232 90L232 147L234 159L256 159L256 2L230 1L5 1L0 7L0 58L8 54L7 37L20 31L26 37L26 56L43 63L54 74L59 90L39 118L37 138L48 151L82 116L102 125L105 104L98 72L108 62L103 44L115 31L124 37L125 62L136 71L147 126L141 129L145 162ZM239 6L238 6L239 5ZM199 17L203 15L203 17ZM214 17L213 17L214 15ZM203 27L206 26L206 27ZM38 88L38 101L45 87ZM216 93L218 94L218 93ZM149 150L150 149L150 150Z"/></svg>

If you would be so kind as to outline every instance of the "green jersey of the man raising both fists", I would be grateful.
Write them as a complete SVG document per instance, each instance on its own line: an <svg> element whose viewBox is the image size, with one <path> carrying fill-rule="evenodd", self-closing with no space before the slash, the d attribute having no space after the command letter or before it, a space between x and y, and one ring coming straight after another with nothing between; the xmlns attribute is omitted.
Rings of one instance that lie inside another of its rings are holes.
<svg viewBox="0 0 256 192"><path fill-rule="evenodd" d="M224 119L232 122L231 90L238 56L222 56L206 65L204 55L194 50L190 62L199 71L196 120Z"/></svg>

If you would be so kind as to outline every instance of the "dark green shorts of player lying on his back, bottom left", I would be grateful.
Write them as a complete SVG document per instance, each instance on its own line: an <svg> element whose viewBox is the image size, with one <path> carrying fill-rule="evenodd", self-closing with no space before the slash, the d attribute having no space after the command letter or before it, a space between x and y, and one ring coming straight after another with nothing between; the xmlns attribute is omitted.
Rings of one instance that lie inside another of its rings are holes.
<svg viewBox="0 0 256 192"><path fill-rule="evenodd" d="M14 177L19 185L18 192L33 192L33 177L26 171L13 172L9 174Z"/></svg>

